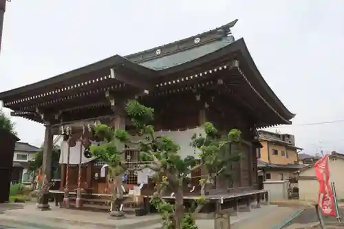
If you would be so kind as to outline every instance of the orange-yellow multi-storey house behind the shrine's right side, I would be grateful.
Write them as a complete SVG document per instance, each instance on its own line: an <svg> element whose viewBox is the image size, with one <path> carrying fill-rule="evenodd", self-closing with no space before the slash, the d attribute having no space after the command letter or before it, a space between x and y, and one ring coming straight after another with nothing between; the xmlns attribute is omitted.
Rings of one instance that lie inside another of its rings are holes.
<svg viewBox="0 0 344 229"><path fill-rule="evenodd" d="M303 166L298 163L301 148L295 146L294 135L259 130L259 180L286 180Z"/></svg>

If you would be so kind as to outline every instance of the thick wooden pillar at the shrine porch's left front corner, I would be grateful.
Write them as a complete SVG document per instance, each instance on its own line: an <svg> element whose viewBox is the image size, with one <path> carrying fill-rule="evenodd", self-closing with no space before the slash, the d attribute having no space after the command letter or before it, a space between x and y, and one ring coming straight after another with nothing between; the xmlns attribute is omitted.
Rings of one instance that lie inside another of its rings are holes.
<svg viewBox="0 0 344 229"><path fill-rule="evenodd" d="M37 204L39 210L50 210L48 201L47 186L51 180L52 174L52 142L54 135L52 135L52 128L50 124L45 124L44 146L43 146L43 162L42 162L42 184L41 184L41 198ZM40 185L40 184L39 184Z"/></svg>

